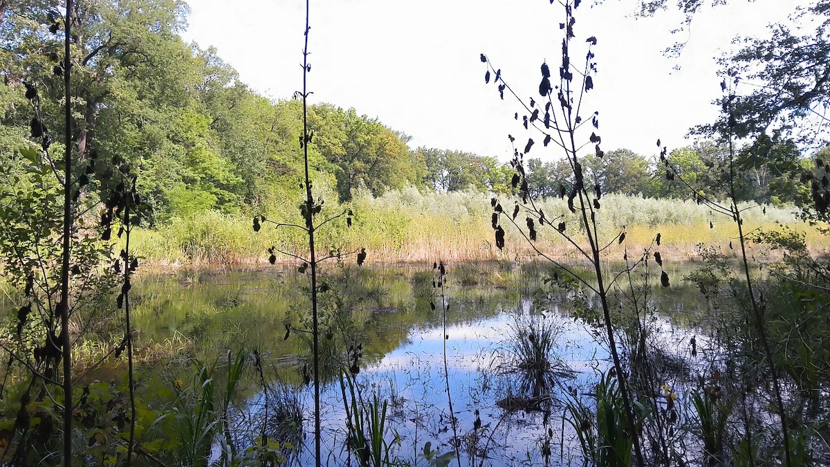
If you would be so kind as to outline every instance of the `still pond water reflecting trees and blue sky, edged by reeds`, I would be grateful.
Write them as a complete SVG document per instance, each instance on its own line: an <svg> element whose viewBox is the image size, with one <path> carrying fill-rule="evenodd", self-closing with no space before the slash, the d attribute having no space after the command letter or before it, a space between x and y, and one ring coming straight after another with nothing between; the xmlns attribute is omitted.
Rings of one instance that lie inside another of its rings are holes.
<svg viewBox="0 0 830 467"><path fill-rule="evenodd" d="M666 361L680 362L673 381L666 381L678 388L690 380L689 365L695 364L691 339L696 337L699 351L706 347L701 337L706 323L698 318L706 305L682 280L690 268L668 271L670 288L659 287L659 269L632 278L638 290L647 291L642 297L653 311L648 319L661 343L657 351ZM356 464L345 448L350 388L369 405L374 396L378 407L388 403L384 431L393 458L427 465L422 453L429 442L432 450L457 451L461 465L581 464L579 440L562 417L564 406L570 397L592 391L610 358L598 317L586 311L593 298L558 287L549 280L553 273L538 263L447 265L442 290L433 288L433 281L441 280L432 264L325 268L323 282L330 288L321 302L328 334L322 339L320 401L325 464ZM621 283L615 293L627 287ZM279 267L145 273L134 288L139 341L166 342L179 355L220 364L227 362L227 350L256 349L264 369L261 376L247 372L234 403L236 435L256 438L270 417L271 436L293 440L295 450L288 454L295 465L314 460L313 389L305 384L310 339L302 331L310 306L304 288L305 275ZM556 367L547 382L528 381L523 371L519 344L529 330L535 336L548 332L548 355ZM625 342L624 332L618 338ZM183 378L190 371L186 363L173 359L144 378ZM291 417L285 414L291 413L302 414L296 424L301 428L294 425L286 435Z"/></svg>

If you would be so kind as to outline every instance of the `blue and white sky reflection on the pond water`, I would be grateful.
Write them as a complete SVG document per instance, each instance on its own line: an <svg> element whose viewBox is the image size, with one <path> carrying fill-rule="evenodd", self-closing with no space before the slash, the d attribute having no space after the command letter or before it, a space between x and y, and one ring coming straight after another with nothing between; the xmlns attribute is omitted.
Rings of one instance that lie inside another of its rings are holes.
<svg viewBox="0 0 830 467"><path fill-rule="evenodd" d="M582 464L579 441L570 425L563 422L561 406L554 405L548 425L544 425L544 416L540 412L519 410L507 414L496 406L496 401L505 397L510 378L515 378L504 376L499 366L515 317L529 312L529 302L524 302L522 308L447 328L447 373L453 411L458 420L457 434L461 439L461 465L543 465L540 442L549 429L554 434L551 463ZM561 381L563 388L554 387L552 395L562 394L564 387L575 386L584 396L592 389L591 383L597 375L595 370L605 371L610 366L606 344L598 343L603 342L603 333L592 332L570 317L551 315L549 319L558 323L562 330L557 354L576 372L573 380ZM652 322L652 332L658 337L657 342L662 342L671 354L688 356L689 332L677 330L664 318ZM388 352L377 364L362 368L357 376L364 401L371 401L374 391L378 391L382 400L389 400L387 440L391 442L395 434L398 435L400 444L393 450L393 455L404 460L417 458L427 441L432 443L433 449L453 450L442 337L441 327L413 327L401 347ZM701 336L697 340L699 352L705 352L708 342ZM698 361L702 361L700 356ZM515 381L513 386L517 386ZM678 389L678 392L682 391ZM302 394L306 438L300 465L314 463L312 394L311 386ZM321 399L321 444L323 452L328 453L325 465L345 465L348 462L348 452L344 449L345 410L339 382L326 385ZM261 400L252 402L257 405ZM583 397L583 402L590 403L590 397ZM476 409L480 411L483 430L473 429ZM560 443L564 445L561 452ZM483 453L487 457L481 464ZM421 461L420 465L425 463ZM457 464L453 461L451 465Z"/></svg>

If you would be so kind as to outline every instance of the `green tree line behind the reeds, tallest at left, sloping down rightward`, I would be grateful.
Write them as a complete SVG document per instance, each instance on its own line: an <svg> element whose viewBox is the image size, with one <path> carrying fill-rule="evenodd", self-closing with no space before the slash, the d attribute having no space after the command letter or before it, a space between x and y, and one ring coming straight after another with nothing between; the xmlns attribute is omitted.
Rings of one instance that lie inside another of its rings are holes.
<svg viewBox="0 0 830 467"><path fill-rule="evenodd" d="M216 209L249 214L299 199L300 101L269 101L240 81L214 48L178 36L188 8L178 0L81 0L71 15L73 91L71 140L81 160L95 159L94 179L128 163L139 171L139 193L154 206L151 221ZM25 164L18 150L33 128L61 135L63 52L51 24L60 17L48 2L2 2L0 17L0 160ZM41 90L41 115L27 111L30 86ZM408 147L410 136L354 109L310 106L312 178L336 187L339 200L359 190L510 190L508 165L492 155ZM37 120L37 121L36 121ZM794 189L804 162L792 141L759 139L765 157L745 150L740 189L745 199L784 204L804 195ZM725 148L704 143L675 150L672 161L701 190L722 192ZM95 155L95 157L93 157ZM535 195L559 194L568 184L567 161L528 161ZM660 165L630 150L588 157L588 173L605 193L676 197L686 193ZM613 176L609 176L613 175ZM99 183L99 182L94 182ZM92 188L106 195L112 186ZM279 201L275 201L279 200Z"/></svg>

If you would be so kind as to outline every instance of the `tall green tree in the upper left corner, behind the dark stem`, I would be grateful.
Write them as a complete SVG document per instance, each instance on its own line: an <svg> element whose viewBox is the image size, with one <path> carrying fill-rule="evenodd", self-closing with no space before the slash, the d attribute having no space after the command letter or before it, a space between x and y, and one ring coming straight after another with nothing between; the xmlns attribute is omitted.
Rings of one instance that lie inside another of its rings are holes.
<svg viewBox="0 0 830 467"><path fill-rule="evenodd" d="M50 12L37 2L11 11L0 28L0 69L17 89L22 81L37 85L44 97L43 121L59 129L63 50L60 34L51 31L66 25L58 20L52 26ZM177 34L185 12L184 4L173 0L73 3L71 139L81 160L92 151L100 155L98 189L114 188L107 180L118 169L111 162L120 159L145 172L157 169L142 177L140 187L151 201L172 188L165 184L170 178L164 165L144 161L164 154L176 109L193 102L197 73ZM53 135L63 137L60 131Z"/></svg>

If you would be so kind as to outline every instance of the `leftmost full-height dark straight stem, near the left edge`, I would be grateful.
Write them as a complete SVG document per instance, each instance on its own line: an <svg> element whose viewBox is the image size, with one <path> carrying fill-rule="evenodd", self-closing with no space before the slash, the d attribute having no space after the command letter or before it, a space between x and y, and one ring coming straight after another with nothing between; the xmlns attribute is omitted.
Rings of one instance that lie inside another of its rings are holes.
<svg viewBox="0 0 830 467"><path fill-rule="evenodd" d="M61 258L61 338L63 350L63 464L72 465L72 349L69 337L69 258L70 237L72 234L72 101L70 91L71 60L70 60L70 30L71 30L72 0L66 0L66 19L64 21L64 56L63 56L63 83L64 83L64 133L66 157L64 160L63 179L63 246Z"/></svg>

